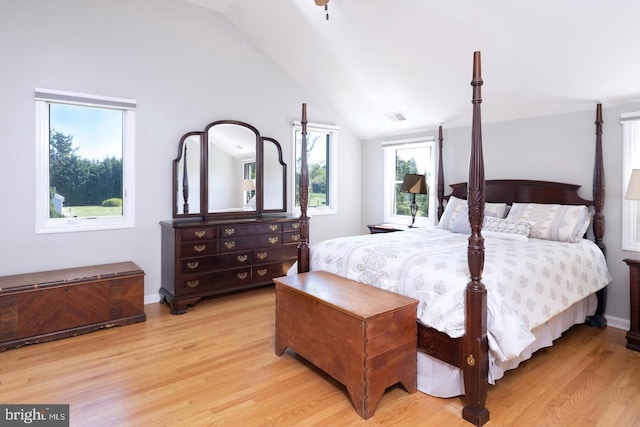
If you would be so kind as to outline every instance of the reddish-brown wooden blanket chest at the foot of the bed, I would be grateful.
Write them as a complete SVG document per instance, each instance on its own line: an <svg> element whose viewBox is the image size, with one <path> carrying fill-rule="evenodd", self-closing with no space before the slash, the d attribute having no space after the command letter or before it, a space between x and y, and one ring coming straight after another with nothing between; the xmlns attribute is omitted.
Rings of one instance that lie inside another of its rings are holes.
<svg viewBox="0 0 640 427"><path fill-rule="evenodd" d="M277 355L289 348L344 384L364 419L388 387L416 391L418 301L325 271L273 281Z"/></svg>

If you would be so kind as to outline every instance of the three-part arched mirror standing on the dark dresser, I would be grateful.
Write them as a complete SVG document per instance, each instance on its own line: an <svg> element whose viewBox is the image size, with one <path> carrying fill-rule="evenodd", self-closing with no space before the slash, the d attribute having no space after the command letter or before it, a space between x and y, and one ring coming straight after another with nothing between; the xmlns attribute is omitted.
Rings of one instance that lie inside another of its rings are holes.
<svg viewBox="0 0 640 427"><path fill-rule="evenodd" d="M220 120L180 139L173 170L174 218L259 217L286 212L286 164L273 138Z"/></svg>

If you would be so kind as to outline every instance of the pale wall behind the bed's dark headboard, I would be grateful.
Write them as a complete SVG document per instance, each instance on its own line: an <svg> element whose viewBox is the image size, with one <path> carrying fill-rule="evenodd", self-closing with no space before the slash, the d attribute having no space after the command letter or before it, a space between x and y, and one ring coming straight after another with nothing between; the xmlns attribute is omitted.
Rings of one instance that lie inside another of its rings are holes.
<svg viewBox="0 0 640 427"><path fill-rule="evenodd" d="M486 94L488 97L489 94ZM629 326L629 271L622 261L631 253L622 251L622 132L620 114L640 111L640 103L603 108L603 155L605 163L605 237L607 260L613 281L608 287L606 316L611 325ZM536 117L483 125L486 179L537 179L580 184L580 195L592 199L595 153L595 103L588 111ZM435 130L421 132L435 136ZM443 130L445 194L448 184L468 179L471 128ZM362 182L382 185L380 140L363 142L368 168ZM378 165L377 167L374 165ZM382 194L363 194L362 223L383 219Z"/></svg>

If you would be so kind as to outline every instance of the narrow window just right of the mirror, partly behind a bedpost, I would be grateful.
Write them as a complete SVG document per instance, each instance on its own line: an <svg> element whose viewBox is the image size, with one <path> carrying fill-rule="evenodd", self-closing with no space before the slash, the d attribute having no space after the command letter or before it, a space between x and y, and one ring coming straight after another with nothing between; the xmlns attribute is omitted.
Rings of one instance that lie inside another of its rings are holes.
<svg viewBox="0 0 640 427"><path fill-rule="evenodd" d="M337 212L337 164L336 145L339 129L326 125L307 125L307 167L309 169L309 214L331 214ZM302 126L293 125L295 189L294 211L300 210L300 164L302 149Z"/></svg>

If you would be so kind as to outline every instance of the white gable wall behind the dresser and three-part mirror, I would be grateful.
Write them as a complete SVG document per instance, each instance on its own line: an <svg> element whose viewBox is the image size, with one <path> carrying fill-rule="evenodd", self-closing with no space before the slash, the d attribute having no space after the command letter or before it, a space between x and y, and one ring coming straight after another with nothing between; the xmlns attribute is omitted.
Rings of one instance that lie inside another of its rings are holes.
<svg viewBox="0 0 640 427"><path fill-rule="evenodd" d="M160 286L158 223L171 218L172 161L184 133L245 121L278 139L289 163L302 102L310 121L340 126L223 16L189 3L3 2L0 58L0 275L131 260L146 273L149 301ZM36 87L137 100L135 228L35 234ZM343 129L339 149L340 211L312 218L312 242L359 230L360 142Z"/></svg>

